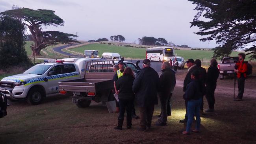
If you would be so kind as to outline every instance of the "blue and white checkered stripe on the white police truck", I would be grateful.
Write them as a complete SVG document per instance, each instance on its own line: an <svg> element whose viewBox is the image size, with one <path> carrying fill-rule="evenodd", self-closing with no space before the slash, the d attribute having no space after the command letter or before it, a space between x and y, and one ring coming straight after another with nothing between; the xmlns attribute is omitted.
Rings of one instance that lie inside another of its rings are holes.
<svg viewBox="0 0 256 144"><path fill-rule="evenodd" d="M71 78L71 77L79 77L79 72L72 72L67 74L58 74L54 76L46 76L43 78L35 78L35 79L29 79L26 81L26 85L30 85L32 83L39 83L39 82L45 82L44 79L48 79L48 81L56 80L56 79L65 79L65 78ZM22 79L15 79L15 78L5 78L5 81L13 81L13 82L20 82L23 81Z"/></svg>

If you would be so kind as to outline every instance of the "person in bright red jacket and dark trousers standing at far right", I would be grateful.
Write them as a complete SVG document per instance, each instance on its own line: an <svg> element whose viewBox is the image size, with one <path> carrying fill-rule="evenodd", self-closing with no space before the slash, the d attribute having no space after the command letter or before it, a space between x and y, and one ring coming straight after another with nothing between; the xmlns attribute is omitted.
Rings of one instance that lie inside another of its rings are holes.
<svg viewBox="0 0 256 144"><path fill-rule="evenodd" d="M237 73L237 83L238 83L238 95L234 101L241 101L243 99L243 92L245 90L245 79L247 72L247 63L245 63L245 54L238 54L239 61L236 63L237 69L235 72Z"/></svg>

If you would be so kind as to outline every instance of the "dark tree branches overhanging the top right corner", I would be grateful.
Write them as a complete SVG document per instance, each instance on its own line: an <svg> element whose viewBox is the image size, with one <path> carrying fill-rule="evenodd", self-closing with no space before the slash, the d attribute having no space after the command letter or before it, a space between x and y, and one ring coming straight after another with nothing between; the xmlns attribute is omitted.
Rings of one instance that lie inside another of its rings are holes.
<svg viewBox="0 0 256 144"><path fill-rule="evenodd" d="M189 1L197 4L198 11L191 27L199 27L196 34L206 36L200 41L215 39L220 44L213 57L224 57L246 47L250 58L256 58L256 0Z"/></svg>

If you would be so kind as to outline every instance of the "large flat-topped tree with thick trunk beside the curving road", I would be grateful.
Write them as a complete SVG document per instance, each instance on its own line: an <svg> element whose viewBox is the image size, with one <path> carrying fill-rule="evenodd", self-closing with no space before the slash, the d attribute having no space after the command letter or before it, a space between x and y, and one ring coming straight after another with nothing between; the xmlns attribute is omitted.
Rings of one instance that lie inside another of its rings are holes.
<svg viewBox="0 0 256 144"><path fill-rule="evenodd" d="M31 32L31 39L34 42L32 44L31 50L32 55L41 55L40 51L47 46L61 43L78 42L72 37L77 37L76 35L69 33L62 33L59 31L43 31L43 26L64 26L64 21L54 14L55 11L47 9L12 9L9 11L4 11L0 14L8 15L10 17L18 17L24 21L24 24L28 27Z"/></svg>

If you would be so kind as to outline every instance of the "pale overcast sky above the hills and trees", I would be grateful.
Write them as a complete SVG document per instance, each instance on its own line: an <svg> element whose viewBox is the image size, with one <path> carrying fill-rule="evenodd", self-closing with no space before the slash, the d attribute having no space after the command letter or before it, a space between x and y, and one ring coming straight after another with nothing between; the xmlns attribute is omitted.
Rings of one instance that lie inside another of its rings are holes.
<svg viewBox="0 0 256 144"><path fill-rule="evenodd" d="M214 48L215 41L200 42L197 27L190 23L197 11L187 0L0 0L0 12L17 5L30 9L51 9L65 24L47 27L78 35L88 41L123 35L126 42L143 36L165 38L176 45Z"/></svg>

